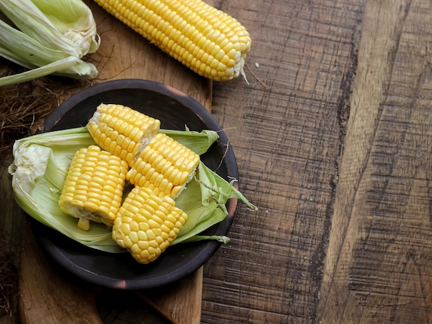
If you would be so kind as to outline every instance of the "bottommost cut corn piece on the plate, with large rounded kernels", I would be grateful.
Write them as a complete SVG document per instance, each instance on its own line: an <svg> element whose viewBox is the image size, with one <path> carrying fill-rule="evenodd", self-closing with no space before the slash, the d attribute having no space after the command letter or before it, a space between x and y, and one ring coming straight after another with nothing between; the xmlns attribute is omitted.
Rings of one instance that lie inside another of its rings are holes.
<svg viewBox="0 0 432 324"><path fill-rule="evenodd" d="M112 226L112 239L138 263L155 261L174 241L188 215L168 196L157 197L150 188L133 188Z"/></svg>

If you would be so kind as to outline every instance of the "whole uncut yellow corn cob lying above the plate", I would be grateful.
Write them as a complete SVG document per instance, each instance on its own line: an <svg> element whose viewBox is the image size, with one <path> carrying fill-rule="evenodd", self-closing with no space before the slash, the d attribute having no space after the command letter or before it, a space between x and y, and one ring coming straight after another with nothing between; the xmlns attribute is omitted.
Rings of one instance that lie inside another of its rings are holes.
<svg viewBox="0 0 432 324"><path fill-rule="evenodd" d="M215 81L244 76L251 37L239 21L204 1L95 1L197 74Z"/></svg>

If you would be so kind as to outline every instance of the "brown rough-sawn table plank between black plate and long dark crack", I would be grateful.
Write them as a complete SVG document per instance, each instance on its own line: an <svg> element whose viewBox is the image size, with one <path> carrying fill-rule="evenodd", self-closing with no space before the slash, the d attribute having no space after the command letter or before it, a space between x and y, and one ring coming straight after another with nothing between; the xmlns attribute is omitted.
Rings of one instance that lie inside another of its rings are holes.
<svg viewBox="0 0 432 324"><path fill-rule="evenodd" d="M362 3L220 2L251 32L257 79L215 83L213 114L259 211L239 207L204 267L202 321L315 323Z"/></svg>

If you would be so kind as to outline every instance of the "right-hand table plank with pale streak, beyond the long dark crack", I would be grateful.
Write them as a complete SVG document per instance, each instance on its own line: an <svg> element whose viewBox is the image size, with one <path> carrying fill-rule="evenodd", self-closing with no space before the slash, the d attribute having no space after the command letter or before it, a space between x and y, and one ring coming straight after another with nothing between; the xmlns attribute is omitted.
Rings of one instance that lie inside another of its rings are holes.
<svg viewBox="0 0 432 324"><path fill-rule="evenodd" d="M319 318L430 323L430 1L366 4Z"/></svg>

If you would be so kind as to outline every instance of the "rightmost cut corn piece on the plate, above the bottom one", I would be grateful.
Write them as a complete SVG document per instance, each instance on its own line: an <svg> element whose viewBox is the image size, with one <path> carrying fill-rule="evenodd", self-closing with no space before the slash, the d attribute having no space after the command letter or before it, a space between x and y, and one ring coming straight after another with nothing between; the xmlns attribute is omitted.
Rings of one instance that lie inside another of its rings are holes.
<svg viewBox="0 0 432 324"><path fill-rule="evenodd" d="M141 151L126 180L150 188L157 196L176 198L193 179L198 164L198 154L170 136L158 133Z"/></svg>

